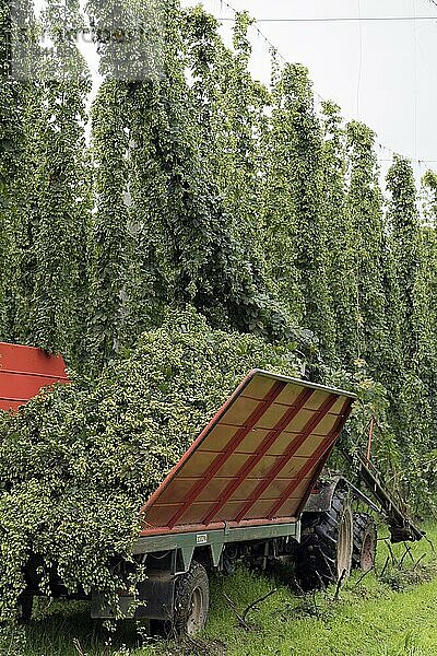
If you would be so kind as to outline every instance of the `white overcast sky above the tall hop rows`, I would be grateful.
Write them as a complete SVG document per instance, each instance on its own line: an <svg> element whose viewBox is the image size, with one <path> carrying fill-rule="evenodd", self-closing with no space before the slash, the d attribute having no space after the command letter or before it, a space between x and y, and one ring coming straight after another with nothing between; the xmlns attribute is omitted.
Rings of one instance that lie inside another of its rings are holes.
<svg viewBox="0 0 437 656"><path fill-rule="evenodd" d="M182 0L182 4L198 2ZM258 26L285 59L309 68L316 91L335 101L346 118L364 120L379 142L421 160L415 164L417 175L428 167L437 169L437 7L430 0L229 0L229 4L259 19L435 16ZM233 16L220 0L204 0L203 5L216 16ZM224 23L226 37L231 24ZM252 71L268 82L268 46L256 35L252 40ZM380 151L381 160L390 156Z"/></svg>

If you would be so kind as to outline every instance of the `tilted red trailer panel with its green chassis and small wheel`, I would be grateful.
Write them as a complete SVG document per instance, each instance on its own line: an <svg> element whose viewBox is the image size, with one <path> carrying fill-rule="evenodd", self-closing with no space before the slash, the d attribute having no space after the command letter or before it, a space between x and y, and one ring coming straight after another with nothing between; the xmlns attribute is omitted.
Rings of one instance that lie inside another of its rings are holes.
<svg viewBox="0 0 437 656"><path fill-rule="evenodd" d="M252 371L142 508L134 554L147 578L138 586L143 606L135 616L193 633L208 614L209 570L291 557L302 511L354 399ZM127 612L132 601L120 597ZM94 617L113 613L93 597Z"/></svg>

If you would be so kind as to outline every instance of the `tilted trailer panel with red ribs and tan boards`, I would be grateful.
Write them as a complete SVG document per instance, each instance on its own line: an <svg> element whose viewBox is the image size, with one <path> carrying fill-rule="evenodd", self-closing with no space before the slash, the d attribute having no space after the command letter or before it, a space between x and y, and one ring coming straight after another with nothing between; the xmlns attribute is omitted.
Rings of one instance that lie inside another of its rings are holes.
<svg viewBox="0 0 437 656"><path fill-rule="evenodd" d="M355 396L252 371L142 508L142 537L297 522Z"/></svg>

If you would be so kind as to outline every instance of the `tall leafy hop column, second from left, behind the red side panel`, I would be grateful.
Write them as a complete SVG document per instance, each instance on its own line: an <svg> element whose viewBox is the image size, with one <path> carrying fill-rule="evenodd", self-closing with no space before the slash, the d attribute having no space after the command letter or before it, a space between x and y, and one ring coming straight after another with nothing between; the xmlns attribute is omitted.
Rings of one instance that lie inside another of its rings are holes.
<svg viewBox="0 0 437 656"><path fill-rule="evenodd" d="M64 11L51 0L46 11L48 32L62 34ZM67 21L68 26L74 25L74 15L67 16ZM61 58L66 78L48 80L42 86L34 136L35 204L31 219L37 231L33 239L36 267L28 321L33 343L74 359L84 329L82 308L87 300L82 259L90 210L84 125L91 81L79 51L69 52L70 60L63 61L62 49L68 44L61 37L61 44L55 45L56 54L47 54L47 66L50 71Z"/></svg>

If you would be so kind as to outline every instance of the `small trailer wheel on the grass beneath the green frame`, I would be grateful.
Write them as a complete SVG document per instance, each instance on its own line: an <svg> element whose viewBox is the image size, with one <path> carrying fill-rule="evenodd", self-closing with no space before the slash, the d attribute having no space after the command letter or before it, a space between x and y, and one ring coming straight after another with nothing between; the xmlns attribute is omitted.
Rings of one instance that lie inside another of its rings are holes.
<svg viewBox="0 0 437 656"><path fill-rule="evenodd" d="M177 635L196 635L206 623L210 606L210 586L206 570L193 561L186 574L176 581L174 632Z"/></svg>

